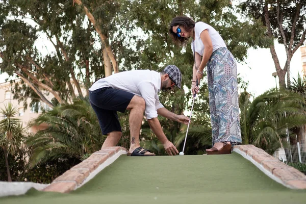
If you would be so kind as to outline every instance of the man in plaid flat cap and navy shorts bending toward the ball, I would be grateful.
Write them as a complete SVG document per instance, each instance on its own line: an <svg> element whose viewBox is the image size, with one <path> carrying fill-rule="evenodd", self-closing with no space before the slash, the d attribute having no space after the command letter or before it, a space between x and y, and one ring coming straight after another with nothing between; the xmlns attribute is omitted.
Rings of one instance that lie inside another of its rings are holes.
<svg viewBox="0 0 306 204"><path fill-rule="evenodd" d="M182 73L174 65L159 73L151 70L123 71L96 81L89 89L90 104L95 111L103 135L108 135L101 149L116 146L121 138L117 111L130 111L131 146L128 156L155 156L140 147L139 134L143 113L151 130L163 143L168 155L179 153L164 134L158 115L188 124L189 118L176 115L160 103L158 92L181 88Z"/></svg>

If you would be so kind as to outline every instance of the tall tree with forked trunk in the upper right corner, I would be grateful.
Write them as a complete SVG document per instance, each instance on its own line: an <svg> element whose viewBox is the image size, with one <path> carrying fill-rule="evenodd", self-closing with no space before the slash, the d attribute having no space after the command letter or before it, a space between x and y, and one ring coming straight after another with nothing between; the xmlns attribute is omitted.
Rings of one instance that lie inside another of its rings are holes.
<svg viewBox="0 0 306 204"><path fill-rule="evenodd" d="M284 68L279 64L274 43L270 52L279 78L279 86L286 88L290 82L290 62L293 54L305 41L306 35L306 1L304 0L246 0L241 4L244 15L251 15L261 20L267 27L267 36L284 44L286 63Z"/></svg>

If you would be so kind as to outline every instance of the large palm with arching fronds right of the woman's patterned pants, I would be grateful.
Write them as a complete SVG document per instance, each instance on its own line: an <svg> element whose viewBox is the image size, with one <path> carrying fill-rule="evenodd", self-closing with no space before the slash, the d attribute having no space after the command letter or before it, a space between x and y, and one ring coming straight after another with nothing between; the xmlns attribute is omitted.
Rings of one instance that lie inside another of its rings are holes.
<svg viewBox="0 0 306 204"><path fill-rule="evenodd" d="M256 145L270 154L284 145L286 129L306 124L300 94L271 89L250 101L250 94L240 94L241 134L244 144Z"/></svg>

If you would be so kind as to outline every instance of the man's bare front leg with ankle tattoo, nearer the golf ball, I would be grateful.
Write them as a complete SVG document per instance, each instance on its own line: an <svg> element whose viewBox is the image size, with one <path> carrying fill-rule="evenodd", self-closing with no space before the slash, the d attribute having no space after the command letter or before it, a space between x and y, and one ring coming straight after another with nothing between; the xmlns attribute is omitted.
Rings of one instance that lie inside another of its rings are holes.
<svg viewBox="0 0 306 204"><path fill-rule="evenodd" d="M129 152L132 153L139 144L139 134L141 122L143 120L143 113L145 109L145 101L142 97L135 95L130 101L129 106L126 110L130 110L130 131L131 131L131 146ZM150 152L145 152L145 155L151 154Z"/></svg>

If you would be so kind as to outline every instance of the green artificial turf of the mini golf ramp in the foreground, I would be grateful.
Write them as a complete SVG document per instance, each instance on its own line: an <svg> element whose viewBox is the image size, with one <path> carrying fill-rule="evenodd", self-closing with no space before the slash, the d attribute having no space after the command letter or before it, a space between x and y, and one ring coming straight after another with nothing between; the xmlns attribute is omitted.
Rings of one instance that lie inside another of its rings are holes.
<svg viewBox="0 0 306 204"><path fill-rule="evenodd" d="M0 203L306 203L306 190L278 184L240 155L120 156L68 193L31 189Z"/></svg>

